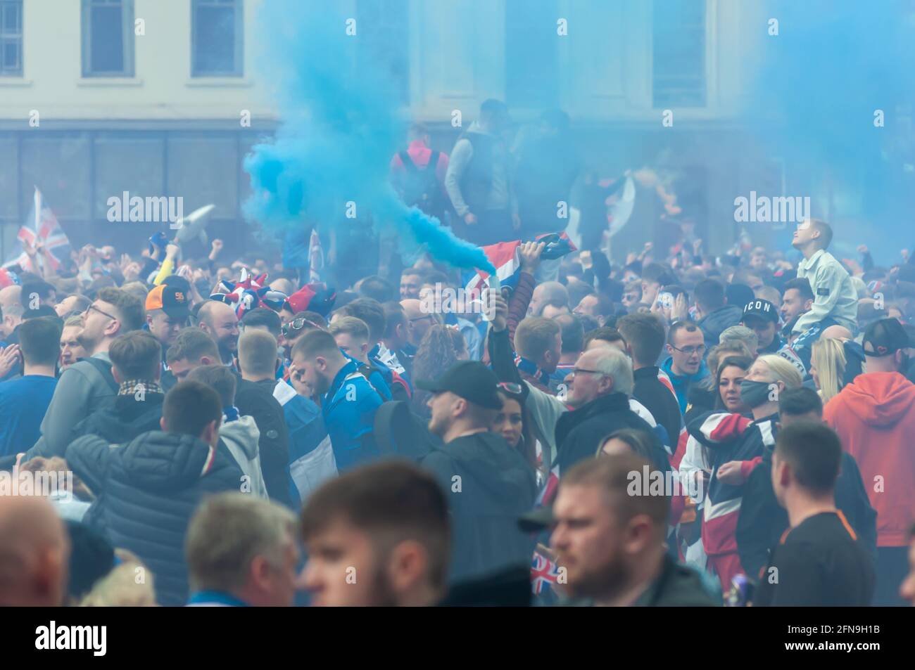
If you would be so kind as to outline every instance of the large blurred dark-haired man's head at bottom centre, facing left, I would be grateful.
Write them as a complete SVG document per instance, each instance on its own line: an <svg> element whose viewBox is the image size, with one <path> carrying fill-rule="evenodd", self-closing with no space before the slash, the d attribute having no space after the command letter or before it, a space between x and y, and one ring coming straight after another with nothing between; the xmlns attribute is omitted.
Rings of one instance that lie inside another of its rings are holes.
<svg viewBox="0 0 915 670"><path fill-rule="evenodd" d="M436 481L384 462L330 480L302 511L304 586L322 606L424 606L445 593L448 513Z"/></svg>

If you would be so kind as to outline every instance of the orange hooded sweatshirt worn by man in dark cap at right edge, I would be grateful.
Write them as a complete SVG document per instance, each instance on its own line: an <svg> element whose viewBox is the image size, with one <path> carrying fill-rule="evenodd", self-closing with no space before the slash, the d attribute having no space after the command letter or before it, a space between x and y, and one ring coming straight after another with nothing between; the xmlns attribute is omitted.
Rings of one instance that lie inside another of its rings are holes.
<svg viewBox="0 0 915 670"><path fill-rule="evenodd" d="M915 384L898 372L858 375L823 409L855 457L877 510L877 547L906 547L915 517Z"/></svg>

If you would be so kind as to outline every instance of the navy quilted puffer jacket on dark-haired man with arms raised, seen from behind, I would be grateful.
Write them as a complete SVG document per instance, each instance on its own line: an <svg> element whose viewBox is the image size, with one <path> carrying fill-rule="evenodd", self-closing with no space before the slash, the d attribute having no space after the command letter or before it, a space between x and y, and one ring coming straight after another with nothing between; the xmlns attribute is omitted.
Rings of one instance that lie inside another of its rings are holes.
<svg viewBox="0 0 915 670"><path fill-rule="evenodd" d="M203 473L209 455L198 438L162 431L123 446L86 435L67 448L70 469L97 496L83 520L152 570L160 605L188 599L184 540L200 500L242 484L238 463L221 450Z"/></svg>

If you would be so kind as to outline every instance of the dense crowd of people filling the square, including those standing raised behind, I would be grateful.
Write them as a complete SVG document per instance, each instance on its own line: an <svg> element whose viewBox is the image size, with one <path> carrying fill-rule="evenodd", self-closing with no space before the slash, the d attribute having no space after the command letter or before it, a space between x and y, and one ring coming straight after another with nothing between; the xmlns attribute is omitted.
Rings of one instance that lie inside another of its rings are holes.
<svg viewBox="0 0 915 670"><path fill-rule="evenodd" d="M392 160L408 205L516 245L460 313L456 269L385 239L337 286L219 239L27 247L0 604L915 601L915 263L837 259L815 218L787 252L556 251L568 119L510 128L486 101L450 155L417 124Z"/></svg>

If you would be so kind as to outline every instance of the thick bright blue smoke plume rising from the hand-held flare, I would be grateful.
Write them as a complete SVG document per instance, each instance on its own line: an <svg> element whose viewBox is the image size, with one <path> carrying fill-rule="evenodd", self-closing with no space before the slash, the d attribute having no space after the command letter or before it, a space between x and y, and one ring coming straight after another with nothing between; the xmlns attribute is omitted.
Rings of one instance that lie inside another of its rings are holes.
<svg viewBox="0 0 915 670"><path fill-rule="evenodd" d="M253 187L245 218L272 229L305 217L337 225L351 202L359 218L371 212L377 227L394 229L404 253L427 250L459 268L492 271L482 250L405 207L388 184L403 122L393 81L360 42L379 27L300 0L267 0L257 17L259 69L277 85L281 126L245 158Z"/></svg>

